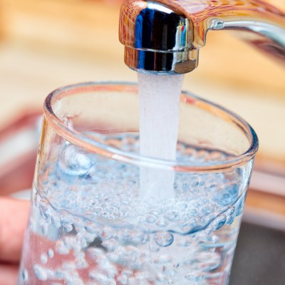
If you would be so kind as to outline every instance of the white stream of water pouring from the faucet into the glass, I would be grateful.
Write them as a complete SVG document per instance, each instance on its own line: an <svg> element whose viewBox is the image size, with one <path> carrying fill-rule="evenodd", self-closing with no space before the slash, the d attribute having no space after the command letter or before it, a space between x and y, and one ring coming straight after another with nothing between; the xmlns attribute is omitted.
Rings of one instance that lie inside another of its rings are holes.
<svg viewBox="0 0 285 285"><path fill-rule="evenodd" d="M140 155L175 160L183 78L138 73ZM171 170L141 167L141 198L155 201L172 197L174 179Z"/></svg>

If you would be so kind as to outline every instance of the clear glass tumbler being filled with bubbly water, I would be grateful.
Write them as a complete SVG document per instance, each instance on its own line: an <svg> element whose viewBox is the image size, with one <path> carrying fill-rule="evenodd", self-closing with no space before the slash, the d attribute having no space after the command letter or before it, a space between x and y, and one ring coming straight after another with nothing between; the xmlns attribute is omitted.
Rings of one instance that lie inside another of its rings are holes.
<svg viewBox="0 0 285 285"><path fill-rule="evenodd" d="M228 283L254 130L183 92L177 160L142 157L139 145L136 85L48 95L19 285ZM174 173L172 195L146 197L142 168Z"/></svg>

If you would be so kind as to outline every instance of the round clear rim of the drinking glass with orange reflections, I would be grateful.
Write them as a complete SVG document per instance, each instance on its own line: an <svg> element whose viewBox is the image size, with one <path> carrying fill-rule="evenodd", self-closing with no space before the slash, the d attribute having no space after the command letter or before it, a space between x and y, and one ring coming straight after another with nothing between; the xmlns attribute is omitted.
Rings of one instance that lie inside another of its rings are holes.
<svg viewBox="0 0 285 285"><path fill-rule="evenodd" d="M63 121L56 116L53 112L52 102L56 98L56 96L61 95L62 93L66 93L68 90L76 90L82 88L90 88L90 87L100 87L100 86L128 86L128 87L136 87L137 83L128 82L128 81L88 81L83 83L71 84L68 86L63 86L61 88L57 88L48 94L46 100L43 105L43 114L46 117L48 123L55 128L56 133L60 135L62 138L68 140L73 145L78 145L88 152L99 153L102 156L107 158L111 158L113 160L119 160L123 163L130 163L133 165L139 166L147 166L147 167L157 167L163 169L174 170L175 172L217 172L222 170L229 170L233 167L238 167L239 165L244 165L244 163L252 160L257 153L259 147L259 140L257 138L257 134L254 129L249 125L243 118L239 115L233 113L227 108L224 108L216 103L212 103L209 100L205 100L200 98L197 95L193 95L192 93L182 90L181 94L185 95L185 97L195 98L197 101L202 103L206 103L207 105L211 105L218 110L222 110L227 113L230 117L234 118L234 120L238 121L240 125L246 130L246 135L249 140L248 149L243 152L241 155L232 156L225 160L213 161L207 165L195 165L195 163L190 161L179 161L179 160L162 160L158 158L145 157L143 155L139 155L133 152L126 152L120 150L116 147L112 147L110 145L105 145L103 142L98 140L91 139L82 133L68 128ZM73 92L74 94L76 92ZM79 93L79 92L78 92ZM59 96L60 100L61 96Z"/></svg>

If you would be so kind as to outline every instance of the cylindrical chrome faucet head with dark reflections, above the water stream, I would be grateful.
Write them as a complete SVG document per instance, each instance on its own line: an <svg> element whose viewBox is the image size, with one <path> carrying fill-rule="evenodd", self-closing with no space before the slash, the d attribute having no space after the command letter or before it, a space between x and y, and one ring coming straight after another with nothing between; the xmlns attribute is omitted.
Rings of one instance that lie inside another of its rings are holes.
<svg viewBox="0 0 285 285"><path fill-rule="evenodd" d="M135 71L182 74L197 67L192 21L155 1L125 1L119 38L125 45L125 64Z"/></svg>

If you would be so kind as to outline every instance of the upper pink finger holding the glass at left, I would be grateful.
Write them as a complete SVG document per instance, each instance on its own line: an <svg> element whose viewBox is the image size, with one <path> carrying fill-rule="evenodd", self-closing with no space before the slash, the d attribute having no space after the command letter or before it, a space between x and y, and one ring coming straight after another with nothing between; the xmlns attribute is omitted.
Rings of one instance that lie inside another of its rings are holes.
<svg viewBox="0 0 285 285"><path fill-rule="evenodd" d="M0 261L19 261L28 207L27 201L0 198Z"/></svg>

